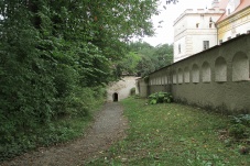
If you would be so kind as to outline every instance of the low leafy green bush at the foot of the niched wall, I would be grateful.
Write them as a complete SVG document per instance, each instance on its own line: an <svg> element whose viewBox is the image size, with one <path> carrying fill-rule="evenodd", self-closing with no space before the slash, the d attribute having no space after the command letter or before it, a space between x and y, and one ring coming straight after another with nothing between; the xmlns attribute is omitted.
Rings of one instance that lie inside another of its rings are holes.
<svg viewBox="0 0 250 166"><path fill-rule="evenodd" d="M156 103L170 103L173 102L173 97L169 92L155 92L149 96L149 103L156 104Z"/></svg>

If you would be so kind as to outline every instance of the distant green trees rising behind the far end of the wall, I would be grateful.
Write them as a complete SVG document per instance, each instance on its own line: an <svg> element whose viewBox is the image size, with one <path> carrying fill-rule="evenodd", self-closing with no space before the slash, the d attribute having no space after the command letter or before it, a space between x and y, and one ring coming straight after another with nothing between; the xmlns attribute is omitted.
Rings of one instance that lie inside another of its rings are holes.
<svg viewBox="0 0 250 166"><path fill-rule="evenodd" d="M151 46L149 43L130 43L129 53L118 64L118 71L146 76L173 63L173 45Z"/></svg>

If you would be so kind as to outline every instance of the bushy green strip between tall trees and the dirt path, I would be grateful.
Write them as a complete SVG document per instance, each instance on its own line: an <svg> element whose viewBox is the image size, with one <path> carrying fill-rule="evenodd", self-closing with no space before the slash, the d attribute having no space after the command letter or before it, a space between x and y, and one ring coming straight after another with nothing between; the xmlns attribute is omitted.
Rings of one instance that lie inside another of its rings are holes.
<svg viewBox="0 0 250 166"><path fill-rule="evenodd" d="M54 117L47 123L20 126L20 118L0 121L0 162L39 146L48 146L83 134L83 128L91 120L93 112L105 100L105 87L80 88L56 100ZM0 120L3 115L0 114ZM3 119L4 120L4 119ZM42 134L41 134L42 133Z"/></svg>

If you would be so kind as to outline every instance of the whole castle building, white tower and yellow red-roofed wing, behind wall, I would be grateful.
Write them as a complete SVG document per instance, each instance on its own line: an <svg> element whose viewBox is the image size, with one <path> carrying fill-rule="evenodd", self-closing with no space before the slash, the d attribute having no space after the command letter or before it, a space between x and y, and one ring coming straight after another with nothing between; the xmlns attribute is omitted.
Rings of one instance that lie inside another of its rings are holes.
<svg viewBox="0 0 250 166"><path fill-rule="evenodd" d="M250 0L213 0L211 9L187 9L174 22L174 62L250 30Z"/></svg>

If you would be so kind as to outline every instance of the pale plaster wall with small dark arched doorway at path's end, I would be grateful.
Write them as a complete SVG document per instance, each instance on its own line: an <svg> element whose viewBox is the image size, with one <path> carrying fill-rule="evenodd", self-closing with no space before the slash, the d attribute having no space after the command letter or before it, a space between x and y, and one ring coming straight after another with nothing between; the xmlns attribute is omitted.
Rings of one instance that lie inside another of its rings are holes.
<svg viewBox="0 0 250 166"><path fill-rule="evenodd" d="M130 96L130 89L135 88L135 80L139 77L127 76L117 82L111 82L107 88L107 100L113 101L112 95L118 93L118 101Z"/></svg>

